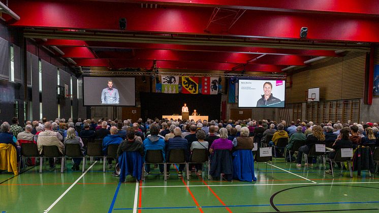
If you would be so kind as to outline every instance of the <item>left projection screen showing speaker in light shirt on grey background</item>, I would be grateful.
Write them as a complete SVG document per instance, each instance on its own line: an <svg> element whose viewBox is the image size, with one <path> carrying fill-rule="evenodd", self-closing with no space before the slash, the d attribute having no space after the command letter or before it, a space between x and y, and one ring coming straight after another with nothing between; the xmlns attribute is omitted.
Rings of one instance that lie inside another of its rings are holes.
<svg viewBox="0 0 379 213"><path fill-rule="evenodd" d="M135 78L83 77L84 106L135 106Z"/></svg>

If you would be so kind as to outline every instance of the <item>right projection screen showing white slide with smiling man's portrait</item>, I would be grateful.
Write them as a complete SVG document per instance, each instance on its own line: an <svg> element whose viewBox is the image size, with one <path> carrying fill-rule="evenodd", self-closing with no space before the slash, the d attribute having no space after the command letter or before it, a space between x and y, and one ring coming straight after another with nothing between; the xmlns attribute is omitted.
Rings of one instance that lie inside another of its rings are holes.
<svg viewBox="0 0 379 213"><path fill-rule="evenodd" d="M238 80L238 107L285 107L286 81Z"/></svg>

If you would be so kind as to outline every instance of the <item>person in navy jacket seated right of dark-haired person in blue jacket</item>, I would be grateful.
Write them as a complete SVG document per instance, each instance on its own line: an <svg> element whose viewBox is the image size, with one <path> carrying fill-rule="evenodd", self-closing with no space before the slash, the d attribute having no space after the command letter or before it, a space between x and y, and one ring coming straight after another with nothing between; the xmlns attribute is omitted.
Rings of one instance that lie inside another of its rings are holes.
<svg viewBox="0 0 379 213"><path fill-rule="evenodd" d="M202 131L202 130L198 130ZM170 138L166 144L166 162L170 159L170 151L171 149L183 149L185 160L188 162L188 159L190 158L190 150L188 148L188 141L185 138L181 137L181 130L179 127L174 128L174 137ZM183 176L183 169L184 164L179 164L178 168L178 177ZM168 168L168 171L170 171L170 166Z"/></svg>

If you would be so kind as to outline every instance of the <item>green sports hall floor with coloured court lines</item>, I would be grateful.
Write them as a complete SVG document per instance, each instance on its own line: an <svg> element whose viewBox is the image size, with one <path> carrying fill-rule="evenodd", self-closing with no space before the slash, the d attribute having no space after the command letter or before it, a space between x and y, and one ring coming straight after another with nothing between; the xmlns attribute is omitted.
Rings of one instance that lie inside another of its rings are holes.
<svg viewBox="0 0 379 213"><path fill-rule="evenodd" d="M324 175L319 168L298 168L283 158L255 163L258 181L178 178L175 168L164 181L153 169L141 182L128 176L119 184L102 163L86 171L39 173L28 167L20 175L0 173L0 212L379 212L379 178L362 171L350 177ZM114 164L113 164L114 165ZM314 164L315 165L315 164ZM315 167L315 166L314 166ZM266 173L267 171L267 173Z"/></svg>

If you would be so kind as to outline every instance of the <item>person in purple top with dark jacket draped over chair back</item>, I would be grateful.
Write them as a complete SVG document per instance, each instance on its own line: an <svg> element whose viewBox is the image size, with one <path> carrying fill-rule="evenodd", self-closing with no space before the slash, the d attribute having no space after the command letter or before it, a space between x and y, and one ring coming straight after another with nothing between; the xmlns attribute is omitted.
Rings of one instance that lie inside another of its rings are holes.
<svg viewBox="0 0 379 213"><path fill-rule="evenodd" d="M211 154L211 172L210 174L214 179L218 179L220 173L225 173L225 176L228 181L232 181L233 179L233 165L232 165L232 156L214 156L216 150L229 150L231 151L233 148L233 142L228 140L228 130L225 128L220 129L220 138L213 141L212 145L209 148L209 153ZM226 164L223 165L225 171L221 171L223 168L220 168L218 164L222 159L226 159ZM218 160L218 161L217 161ZM221 170L220 170L221 169Z"/></svg>

